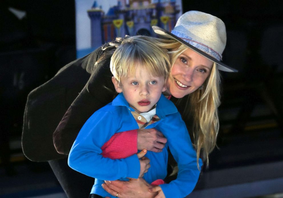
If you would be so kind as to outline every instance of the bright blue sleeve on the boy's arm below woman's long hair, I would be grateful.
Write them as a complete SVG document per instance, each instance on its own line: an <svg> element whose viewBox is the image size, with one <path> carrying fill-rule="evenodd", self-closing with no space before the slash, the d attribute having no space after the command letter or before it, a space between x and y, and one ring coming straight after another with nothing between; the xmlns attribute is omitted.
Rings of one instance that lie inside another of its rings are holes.
<svg viewBox="0 0 283 198"><path fill-rule="evenodd" d="M199 178L196 151L193 148L186 125L179 113L171 114L167 122L159 125L167 138L168 147L178 163L177 179L169 184L161 184L160 187L165 197L186 197L193 191ZM199 159L199 167L202 161Z"/></svg>

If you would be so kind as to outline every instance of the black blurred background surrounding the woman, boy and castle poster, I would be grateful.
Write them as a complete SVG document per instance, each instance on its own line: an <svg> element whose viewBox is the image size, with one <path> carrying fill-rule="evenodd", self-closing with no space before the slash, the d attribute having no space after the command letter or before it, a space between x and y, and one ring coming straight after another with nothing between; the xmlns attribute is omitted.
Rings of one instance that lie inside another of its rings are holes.
<svg viewBox="0 0 283 198"><path fill-rule="evenodd" d="M203 169L203 175L283 160L282 2L183 1L183 12L203 11L224 21L227 46L223 62L239 70L238 73L221 72L219 148L211 153L210 165ZM18 19L9 7L25 11L26 16ZM74 1L2 1L0 197L5 195L4 188L12 186L11 179L20 178L23 170L37 177L48 174L46 178L50 177L58 186L50 176L48 163L31 162L22 153L23 111L27 94L75 58ZM278 177L282 177L279 172ZM206 187L201 179L197 189Z"/></svg>

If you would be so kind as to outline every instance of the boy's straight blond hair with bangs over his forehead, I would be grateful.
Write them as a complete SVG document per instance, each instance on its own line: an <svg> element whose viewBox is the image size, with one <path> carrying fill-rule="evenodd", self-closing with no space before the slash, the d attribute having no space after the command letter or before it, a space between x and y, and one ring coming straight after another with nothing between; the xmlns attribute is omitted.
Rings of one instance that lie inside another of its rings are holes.
<svg viewBox="0 0 283 198"><path fill-rule="evenodd" d="M166 79L170 71L168 50L160 47L156 38L148 36L133 36L124 39L114 51L110 70L120 84L121 77L133 74L136 66L152 76L164 76Z"/></svg>

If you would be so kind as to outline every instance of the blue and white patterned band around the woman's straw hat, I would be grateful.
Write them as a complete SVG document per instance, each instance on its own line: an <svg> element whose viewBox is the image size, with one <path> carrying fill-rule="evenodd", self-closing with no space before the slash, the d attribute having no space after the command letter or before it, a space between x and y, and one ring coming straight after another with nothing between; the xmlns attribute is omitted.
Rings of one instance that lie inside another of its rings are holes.
<svg viewBox="0 0 283 198"><path fill-rule="evenodd" d="M222 56L219 53L217 53L215 50L213 50L212 48L208 47L207 45L204 45L202 43L194 41L191 37L188 37L186 34L180 33L178 31L174 31L174 30L171 31L171 33L173 35L179 37L180 39L182 39L186 43L189 43L190 45L196 47L197 49L207 53L208 55L212 56L216 60L220 61L222 59Z"/></svg>

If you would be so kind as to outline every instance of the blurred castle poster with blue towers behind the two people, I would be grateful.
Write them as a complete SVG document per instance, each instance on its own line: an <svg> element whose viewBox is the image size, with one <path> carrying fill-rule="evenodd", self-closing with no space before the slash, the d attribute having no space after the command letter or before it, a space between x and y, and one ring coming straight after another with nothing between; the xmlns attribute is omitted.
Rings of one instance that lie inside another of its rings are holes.
<svg viewBox="0 0 283 198"><path fill-rule="evenodd" d="M75 0L77 58L115 37L156 36L151 26L168 31L182 14L181 0Z"/></svg>

